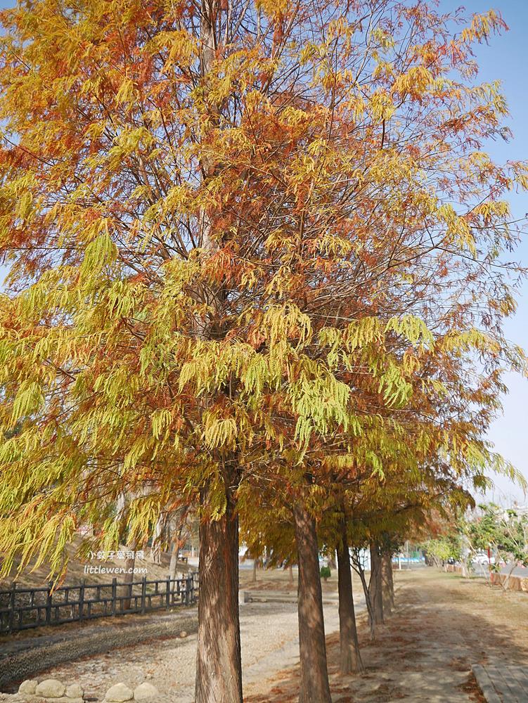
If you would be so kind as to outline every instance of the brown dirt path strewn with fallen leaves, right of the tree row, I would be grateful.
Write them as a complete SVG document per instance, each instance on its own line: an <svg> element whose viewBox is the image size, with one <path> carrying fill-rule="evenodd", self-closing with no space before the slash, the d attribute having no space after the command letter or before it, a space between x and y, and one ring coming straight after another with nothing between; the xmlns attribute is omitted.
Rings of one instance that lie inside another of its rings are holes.
<svg viewBox="0 0 528 703"><path fill-rule="evenodd" d="M482 702L471 664L489 657L526 664L527 594L503 593L430 568L399 572L396 581L397 609L374 643L361 626L364 676L337 673L339 640L328 638L334 703ZM245 701L293 703L297 691L293 667L278 673L271 689L263 685Z"/></svg>

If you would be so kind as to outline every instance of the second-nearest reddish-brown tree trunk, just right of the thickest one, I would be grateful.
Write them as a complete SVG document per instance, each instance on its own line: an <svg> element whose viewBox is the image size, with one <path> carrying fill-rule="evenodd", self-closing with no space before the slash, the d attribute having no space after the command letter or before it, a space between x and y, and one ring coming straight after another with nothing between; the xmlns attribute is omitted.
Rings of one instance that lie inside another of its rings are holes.
<svg viewBox="0 0 528 703"><path fill-rule="evenodd" d="M316 523L303 505L295 505L294 517L299 565L299 703L331 703Z"/></svg>

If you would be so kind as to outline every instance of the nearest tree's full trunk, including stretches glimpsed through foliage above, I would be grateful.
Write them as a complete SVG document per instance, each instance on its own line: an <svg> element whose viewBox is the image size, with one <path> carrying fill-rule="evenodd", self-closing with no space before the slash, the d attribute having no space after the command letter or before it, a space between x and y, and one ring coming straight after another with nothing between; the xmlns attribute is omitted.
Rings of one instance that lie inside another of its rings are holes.
<svg viewBox="0 0 528 703"><path fill-rule="evenodd" d="M200 74L214 70L220 41L219 0L202 0L200 11ZM229 21L229 20L227 20ZM220 105L207 94L203 82L212 129L220 121ZM207 142L207 136L204 137ZM200 160L205 183L214 178L212 157ZM212 234L212 221L207 208L200 212L198 246L208 256L221 246ZM210 339L212 334L224 333L222 304L226 297L223 284L207 285L200 291L210 308L210 314L195 315L198 337ZM198 650L194 703L242 703L242 664L240 662L240 621L238 614L238 517L234 491L240 476L219 460L224 474L226 512L219 520L207 518L200 523L200 595L198 598ZM207 506L207 489L200 496Z"/></svg>

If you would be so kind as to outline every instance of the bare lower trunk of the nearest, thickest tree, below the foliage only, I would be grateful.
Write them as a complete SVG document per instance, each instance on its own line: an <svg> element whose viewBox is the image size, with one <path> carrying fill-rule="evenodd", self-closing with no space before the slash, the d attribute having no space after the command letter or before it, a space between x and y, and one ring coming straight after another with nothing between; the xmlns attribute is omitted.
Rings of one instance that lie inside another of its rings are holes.
<svg viewBox="0 0 528 703"><path fill-rule="evenodd" d="M233 500L228 500L220 520L200 524L199 578L195 703L242 703L238 519Z"/></svg>

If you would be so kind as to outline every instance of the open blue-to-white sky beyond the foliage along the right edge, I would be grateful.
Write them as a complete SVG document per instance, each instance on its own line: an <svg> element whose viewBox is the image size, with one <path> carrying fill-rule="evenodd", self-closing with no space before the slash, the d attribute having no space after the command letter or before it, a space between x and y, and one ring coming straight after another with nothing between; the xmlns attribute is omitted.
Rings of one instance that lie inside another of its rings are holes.
<svg viewBox="0 0 528 703"><path fill-rule="evenodd" d="M0 7L14 6L14 2L0 0ZM469 13L498 10L510 27L502 36L492 37L489 46L477 47L476 56L481 67L480 79L501 79L510 108L510 127L513 139L505 143L491 142L487 150L498 162L509 159L528 160L528 67L527 27L528 0L439 0L442 11L452 11L460 6ZM528 193L512 193L510 202L515 218L528 213ZM528 234L520 244L515 259L528 267ZM519 307L515 318L508 321L510 340L528 349L528 281L519 291ZM504 414L496 420L489 432L496 451L510 460L528 479L528 379L510 374L506 378L509 393L503 398ZM528 503L522 490L505 477L496 477L496 490L490 494L497 501L509 502L510 498Z"/></svg>

